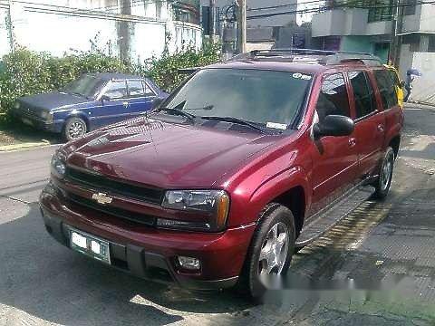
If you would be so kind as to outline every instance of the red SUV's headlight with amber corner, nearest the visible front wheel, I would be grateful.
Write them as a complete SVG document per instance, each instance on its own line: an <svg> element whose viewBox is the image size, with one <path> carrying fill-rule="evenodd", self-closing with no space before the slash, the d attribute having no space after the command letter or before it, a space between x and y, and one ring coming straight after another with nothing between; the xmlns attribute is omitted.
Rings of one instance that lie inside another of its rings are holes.
<svg viewBox="0 0 435 326"><path fill-rule="evenodd" d="M157 225L160 227L219 232L227 226L229 197L224 190L167 191L162 206L196 218L191 222L159 218Z"/></svg>

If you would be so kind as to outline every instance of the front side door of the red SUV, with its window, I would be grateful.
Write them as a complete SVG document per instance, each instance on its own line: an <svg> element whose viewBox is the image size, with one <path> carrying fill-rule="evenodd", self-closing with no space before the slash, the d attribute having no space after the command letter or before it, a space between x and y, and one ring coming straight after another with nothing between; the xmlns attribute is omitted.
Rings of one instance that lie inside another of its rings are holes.
<svg viewBox="0 0 435 326"><path fill-rule="evenodd" d="M316 104L316 117L322 123L328 115L352 117L348 86L343 73L326 75ZM358 158L354 135L314 139L313 211L324 208L356 179Z"/></svg>

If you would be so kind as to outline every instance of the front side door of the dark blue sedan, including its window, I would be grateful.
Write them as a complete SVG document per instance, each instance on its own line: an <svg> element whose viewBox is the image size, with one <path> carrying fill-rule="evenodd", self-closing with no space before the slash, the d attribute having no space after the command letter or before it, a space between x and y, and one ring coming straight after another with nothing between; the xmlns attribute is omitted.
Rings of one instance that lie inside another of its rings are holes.
<svg viewBox="0 0 435 326"><path fill-rule="evenodd" d="M130 101L127 82L108 82L102 91L102 106L92 110L93 129L130 118Z"/></svg>

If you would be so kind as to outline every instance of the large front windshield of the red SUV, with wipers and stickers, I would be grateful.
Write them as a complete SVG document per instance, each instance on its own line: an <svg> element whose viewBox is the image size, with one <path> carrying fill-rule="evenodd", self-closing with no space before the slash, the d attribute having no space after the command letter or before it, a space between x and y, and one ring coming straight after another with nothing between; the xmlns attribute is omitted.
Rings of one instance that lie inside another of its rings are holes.
<svg viewBox="0 0 435 326"><path fill-rule="evenodd" d="M299 72L205 69L196 73L165 108L202 118L229 117L287 129L303 107L312 79Z"/></svg>

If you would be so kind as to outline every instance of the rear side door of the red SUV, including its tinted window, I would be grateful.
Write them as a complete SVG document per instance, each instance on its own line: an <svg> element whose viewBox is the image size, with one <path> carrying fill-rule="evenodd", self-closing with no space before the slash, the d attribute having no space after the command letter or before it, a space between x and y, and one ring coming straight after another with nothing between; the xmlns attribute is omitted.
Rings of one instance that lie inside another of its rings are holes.
<svg viewBox="0 0 435 326"><path fill-rule="evenodd" d="M359 177L368 177L382 158L385 138L385 116L377 105L368 72L348 72L355 110L355 139L359 159Z"/></svg>

